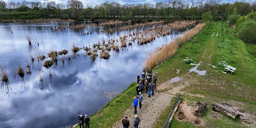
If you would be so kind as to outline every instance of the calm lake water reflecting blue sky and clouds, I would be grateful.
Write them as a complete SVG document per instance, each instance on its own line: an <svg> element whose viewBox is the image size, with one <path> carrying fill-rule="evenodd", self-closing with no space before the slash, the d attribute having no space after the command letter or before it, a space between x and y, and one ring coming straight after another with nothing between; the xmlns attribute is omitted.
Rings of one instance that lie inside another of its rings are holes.
<svg viewBox="0 0 256 128"><path fill-rule="evenodd" d="M1 85L0 127L64 127L77 122L78 112L91 115L104 106L110 99L105 92L122 92L136 81L136 75L142 71L145 55L182 34L174 31L170 35L158 37L144 45L132 42L119 53L110 51L109 59L96 58L91 62L85 51L80 49L76 55L71 53L72 42L77 47L89 46L102 38L119 39L134 28L113 33L101 32L103 26L90 26L81 29L58 29L59 25L70 22L51 23L2 23L0 24L0 63L5 66L9 85ZM89 35L84 33L89 32ZM90 33L91 32L91 33ZM26 34L31 38L29 48ZM120 45L120 44L119 44ZM68 50L67 55L58 56L57 65L49 69L42 66L43 61L30 60L40 54L47 56L51 50ZM20 63L27 70L26 61L31 67L31 74L21 78L16 72ZM49 75L51 73L51 75ZM43 83L40 83L40 76Z"/></svg>

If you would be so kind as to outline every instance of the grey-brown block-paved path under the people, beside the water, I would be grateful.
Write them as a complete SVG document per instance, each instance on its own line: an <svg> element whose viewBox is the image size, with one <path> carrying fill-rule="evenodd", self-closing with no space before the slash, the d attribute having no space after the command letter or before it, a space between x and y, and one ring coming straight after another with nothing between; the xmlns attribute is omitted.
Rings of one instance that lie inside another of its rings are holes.
<svg viewBox="0 0 256 128"><path fill-rule="evenodd" d="M148 97L148 94L143 92L143 100L141 102L142 106L139 109L139 104L137 106L137 115L140 118L139 128L150 128L156 124L158 117L161 115L162 111L164 111L169 105L172 97L174 95L167 93L155 93ZM130 103L132 104L132 102ZM134 107L130 105L130 107L125 111L123 118L125 116L128 117L130 122L129 127L133 127L134 120ZM112 128L122 128L122 118L119 121L115 122Z"/></svg>

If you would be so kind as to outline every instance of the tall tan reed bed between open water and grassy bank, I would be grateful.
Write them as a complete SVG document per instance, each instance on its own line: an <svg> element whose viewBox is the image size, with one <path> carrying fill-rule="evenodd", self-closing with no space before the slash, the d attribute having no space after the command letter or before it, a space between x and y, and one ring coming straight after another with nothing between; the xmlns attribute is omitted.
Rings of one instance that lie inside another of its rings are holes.
<svg viewBox="0 0 256 128"><path fill-rule="evenodd" d="M190 40L203 28L204 25L205 23L199 23L194 28L187 30L183 36L180 36L175 40L172 40L169 43L163 44L161 47L150 51L148 55L146 55L143 70L151 69L167 58L173 56L176 53L179 45Z"/></svg>

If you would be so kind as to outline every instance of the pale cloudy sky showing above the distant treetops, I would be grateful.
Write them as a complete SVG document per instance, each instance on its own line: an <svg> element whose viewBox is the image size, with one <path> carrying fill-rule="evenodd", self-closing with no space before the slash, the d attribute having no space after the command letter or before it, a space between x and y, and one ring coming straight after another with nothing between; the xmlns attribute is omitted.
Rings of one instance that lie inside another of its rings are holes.
<svg viewBox="0 0 256 128"><path fill-rule="evenodd" d="M67 1L68 0L3 0L5 1L6 3L8 2L22 2L22 1L33 1L33 2L38 2L38 1L41 1L41 2L47 2L47 1L55 1L56 3L63 3L63 4L67 4ZM91 6L95 6L95 5L100 5L101 3L107 1L107 0L79 0L83 3L83 6L86 7L86 5L91 5ZM117 2L117 3L120 3L121 5L124 5L124 4L143 4L143 3L151 3L151 4L154 4L156 2L159 2L159 1L168 1L168 0L108 0L110 2ZM187 0L187 1L191 1L191 0ZM195 1L195 0L194 0ZM241 0L221 0L221 3L233 3L234 1L241 1ZM250 1L255 1L255 0L250 0Z"/></svg>

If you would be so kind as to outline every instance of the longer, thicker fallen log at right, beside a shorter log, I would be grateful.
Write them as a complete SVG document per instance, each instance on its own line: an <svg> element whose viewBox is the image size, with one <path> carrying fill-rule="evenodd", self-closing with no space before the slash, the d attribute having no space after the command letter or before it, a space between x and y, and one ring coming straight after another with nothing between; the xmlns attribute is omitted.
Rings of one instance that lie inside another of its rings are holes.
<svg viewBox="0 0 256 128"><path fill-rule="evenodd" d="M222 104L219 104L219 103L214 103L212 104L213 106L213 110L216 110L216 111L219 111L221 113L224 113L230 117L232 117L233 119L239 117L239 113L229 109L228 107L222 105Z"/></svg>

